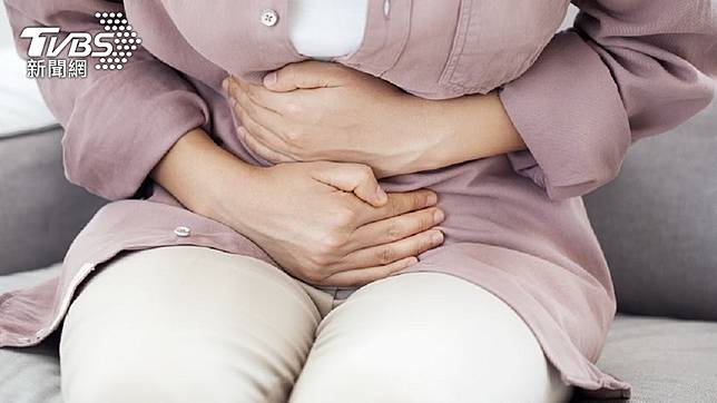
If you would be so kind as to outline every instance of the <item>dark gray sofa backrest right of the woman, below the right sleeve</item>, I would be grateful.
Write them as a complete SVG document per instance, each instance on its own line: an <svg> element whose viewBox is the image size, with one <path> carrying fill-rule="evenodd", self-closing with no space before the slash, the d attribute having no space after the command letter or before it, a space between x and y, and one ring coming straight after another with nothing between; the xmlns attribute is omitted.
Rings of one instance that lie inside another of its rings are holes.
<svg viewBox="0 0 717 403"><path fill-rule="evenodd" d="M717 104L586 197L625 313L717 320Z"/></svg>

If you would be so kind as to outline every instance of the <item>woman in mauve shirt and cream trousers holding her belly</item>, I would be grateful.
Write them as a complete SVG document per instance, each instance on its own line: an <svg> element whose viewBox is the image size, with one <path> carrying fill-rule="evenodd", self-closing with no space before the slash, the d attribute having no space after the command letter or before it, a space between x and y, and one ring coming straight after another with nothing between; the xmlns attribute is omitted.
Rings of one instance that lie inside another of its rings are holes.
<svg viewBox="0 0 717 403"><path fill-rule="evenodd" d="M0 297L1 345L63 325L67 402L629 396L579 196L709 104L709 1L574 1L556 36L567 0L6 3L145 47L40 81L115 200Z"/></svg>

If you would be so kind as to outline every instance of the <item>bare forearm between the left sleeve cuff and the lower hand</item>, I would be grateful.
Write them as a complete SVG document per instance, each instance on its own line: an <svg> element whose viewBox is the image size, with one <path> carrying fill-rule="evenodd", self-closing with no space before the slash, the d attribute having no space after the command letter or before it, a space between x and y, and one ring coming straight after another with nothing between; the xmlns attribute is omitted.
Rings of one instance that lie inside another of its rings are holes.
<svg viewBox="0 0 717 403"><path fill-rule="evenodd" d="M217 146L204 130L195 129L169 149L151 178L189 210L236 227L240 206L229 212L222 200L227 187L248 186L255 169Z"/></svg>

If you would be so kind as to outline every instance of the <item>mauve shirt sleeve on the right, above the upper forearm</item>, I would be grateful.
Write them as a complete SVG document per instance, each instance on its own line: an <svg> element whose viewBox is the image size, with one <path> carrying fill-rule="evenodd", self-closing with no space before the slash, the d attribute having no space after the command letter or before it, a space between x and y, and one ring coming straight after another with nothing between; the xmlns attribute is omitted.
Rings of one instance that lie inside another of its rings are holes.
<svg viewBox="0 0 717 403"><path fill-rule="evenodd" d="M513 168L551 199L619 173L627 148L709 105L717 75L710 0L573 0L574 26L499 90L528 150Z"/></svg>

